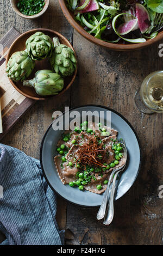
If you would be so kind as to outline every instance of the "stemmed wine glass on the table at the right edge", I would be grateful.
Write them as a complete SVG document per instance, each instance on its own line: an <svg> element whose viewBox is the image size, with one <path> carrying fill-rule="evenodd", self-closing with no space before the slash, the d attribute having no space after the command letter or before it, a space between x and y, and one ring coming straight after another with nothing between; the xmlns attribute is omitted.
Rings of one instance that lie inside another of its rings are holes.
<svg viewBox="0 0 163 256"><path fill-rule="evenodd" d="M154 71L143 80L135 93L135 105L145 114L163 113L163 70Z"/></svg>

